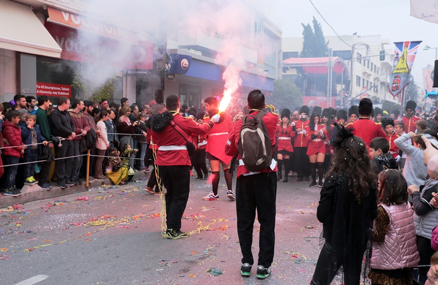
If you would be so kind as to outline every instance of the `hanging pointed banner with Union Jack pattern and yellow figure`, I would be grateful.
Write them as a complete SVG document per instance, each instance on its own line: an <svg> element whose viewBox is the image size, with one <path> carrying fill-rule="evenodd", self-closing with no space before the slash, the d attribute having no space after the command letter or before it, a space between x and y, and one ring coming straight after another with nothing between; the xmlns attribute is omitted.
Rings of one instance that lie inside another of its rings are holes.
<svg viewBox="0 0 438 285"><path fill-rule="evenodd" d="M409 73L414 64L418 46L421 41L405 41L396 42L396 50L394 52L393 72L391 73L390 85L388 86L390 93L396 98L409 84Z"/></svg>

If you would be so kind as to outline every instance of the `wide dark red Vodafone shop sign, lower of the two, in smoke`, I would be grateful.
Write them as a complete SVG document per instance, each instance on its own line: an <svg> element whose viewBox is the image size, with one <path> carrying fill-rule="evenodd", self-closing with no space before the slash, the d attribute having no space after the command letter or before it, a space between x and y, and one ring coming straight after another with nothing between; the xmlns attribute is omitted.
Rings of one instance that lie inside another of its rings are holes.
<svg viewBox="0 0 438 285"><path fill-rule="evenodd" d="M49 22L44 25L62 48L61 59L119 69L153 68L151 41L139 41L138 45L133 45Z"/></svg>

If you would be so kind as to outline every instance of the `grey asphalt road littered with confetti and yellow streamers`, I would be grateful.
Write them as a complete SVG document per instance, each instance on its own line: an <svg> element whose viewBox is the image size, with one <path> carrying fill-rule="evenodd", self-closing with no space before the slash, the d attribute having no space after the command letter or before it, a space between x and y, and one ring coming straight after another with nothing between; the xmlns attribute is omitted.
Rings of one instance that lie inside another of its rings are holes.
<svg viewBox="0 0 438 285"><path fill-rule="evenodd" d="M256 266L240 276L236 206L223 177L218 201L203 201L211 186L192 177L181 230L196 232L177 240L162 238L162 202L143 190L145 181L0 209L0 284L308 285L320 251L320 188L295 180L278 183L276 252L265 280ZM259 229L256 220L255 262Z"/></svg>

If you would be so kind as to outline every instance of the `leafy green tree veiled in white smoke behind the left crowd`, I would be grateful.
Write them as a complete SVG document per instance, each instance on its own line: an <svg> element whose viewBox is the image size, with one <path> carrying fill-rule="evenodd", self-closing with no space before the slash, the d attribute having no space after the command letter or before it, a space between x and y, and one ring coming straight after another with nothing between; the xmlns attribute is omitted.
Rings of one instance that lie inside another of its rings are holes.
<svg viewBox="0 0 438 285"><path fill-rule="evenodd" d="M115 71L104 66L90 65L79 62L73 73L71 86L77 92L77 97L92 102L109 100L114 94Z"/></svg>

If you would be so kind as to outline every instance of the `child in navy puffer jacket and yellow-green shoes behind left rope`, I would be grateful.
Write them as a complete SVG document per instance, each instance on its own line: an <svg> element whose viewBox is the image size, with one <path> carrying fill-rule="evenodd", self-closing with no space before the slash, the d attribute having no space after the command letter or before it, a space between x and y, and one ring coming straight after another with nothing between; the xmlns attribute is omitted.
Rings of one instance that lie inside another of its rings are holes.
<svg viewBox="0 0 438 285"><path fill-rule="evenodd" d="M26 123L21 126L21 140L27 145L24 150L24 184L33 185L38 181L33 177L35 173L35 164L38 159L38 152L41 152L41 146L37 143L47 145L47 141L41 136L41 131L36 123L36 115L29 114L26 116Z"/></svg>

